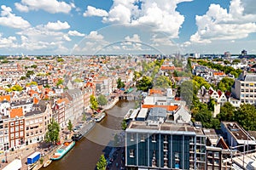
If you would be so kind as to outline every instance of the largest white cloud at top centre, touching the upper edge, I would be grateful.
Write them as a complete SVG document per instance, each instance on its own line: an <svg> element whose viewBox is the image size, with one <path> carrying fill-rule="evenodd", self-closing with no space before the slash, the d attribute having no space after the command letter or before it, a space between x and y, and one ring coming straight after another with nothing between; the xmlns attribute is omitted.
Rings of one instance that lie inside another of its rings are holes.
<svg viewBox="0 0 256 170"><path fill-rule="evenodd" d="M176 11L177 3L192 0L114 0L103 22L129 24L129 26L152 26L154 31L164 31L178 37L184 17Z"/></svg>

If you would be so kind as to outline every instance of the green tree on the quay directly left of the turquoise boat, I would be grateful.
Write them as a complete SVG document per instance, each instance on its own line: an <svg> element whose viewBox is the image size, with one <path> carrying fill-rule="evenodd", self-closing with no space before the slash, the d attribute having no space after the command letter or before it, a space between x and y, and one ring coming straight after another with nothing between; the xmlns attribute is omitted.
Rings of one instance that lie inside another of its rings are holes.
<svg viewBox="0 0 256 170"><path fill-rule="evenodd" d="M45 141L55 143L59 140L60 125L52 120L48 125L48 131L45 134Z"/></svg>

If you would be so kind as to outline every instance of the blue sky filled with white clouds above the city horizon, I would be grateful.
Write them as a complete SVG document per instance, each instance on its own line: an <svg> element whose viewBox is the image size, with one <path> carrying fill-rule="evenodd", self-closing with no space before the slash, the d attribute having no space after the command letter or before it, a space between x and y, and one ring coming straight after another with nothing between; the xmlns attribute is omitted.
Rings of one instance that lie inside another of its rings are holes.
<svg viewBox="0 0 256 170"><path fill-rule="evenodd" d="M255 0L1 0L0 54L256 54Z"/></svg>

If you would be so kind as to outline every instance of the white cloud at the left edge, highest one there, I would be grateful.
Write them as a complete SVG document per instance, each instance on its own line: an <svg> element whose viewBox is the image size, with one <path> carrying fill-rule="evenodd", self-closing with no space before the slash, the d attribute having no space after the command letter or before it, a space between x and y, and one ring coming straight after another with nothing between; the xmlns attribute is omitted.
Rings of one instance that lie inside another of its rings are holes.
<svg viewBox="0 0 256 170"><path fill-rule="evenodd" d="M28 21L13 14L12 8L6 7L5 5L2 5L1 8L0 25L20 29L25 29L30 26Z"/></svg>

